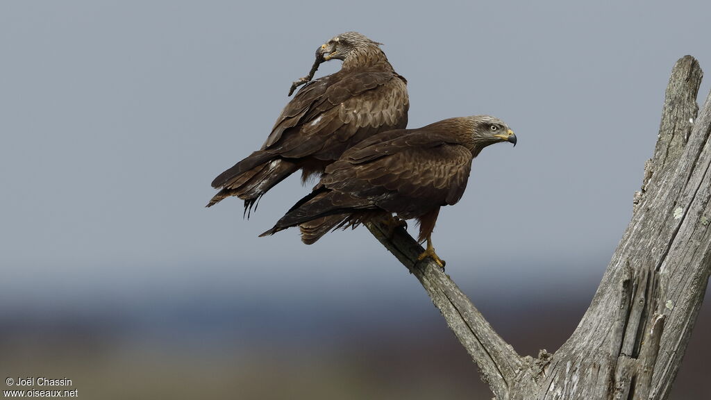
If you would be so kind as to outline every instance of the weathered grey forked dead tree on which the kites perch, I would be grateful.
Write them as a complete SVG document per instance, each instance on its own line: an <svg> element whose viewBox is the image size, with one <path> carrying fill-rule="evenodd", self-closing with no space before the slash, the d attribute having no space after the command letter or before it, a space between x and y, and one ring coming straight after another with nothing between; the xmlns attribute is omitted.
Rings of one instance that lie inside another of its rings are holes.
<svg viewBox="0 0 711 400"><path fill-rule="evenodd" d="M398 228L368 229L414 274L481 369L496 399L666 399L711 273L711 93L697 118L702 71L680 58L634 214L597 293L555 353L520 357L422 246Z"/></svg>

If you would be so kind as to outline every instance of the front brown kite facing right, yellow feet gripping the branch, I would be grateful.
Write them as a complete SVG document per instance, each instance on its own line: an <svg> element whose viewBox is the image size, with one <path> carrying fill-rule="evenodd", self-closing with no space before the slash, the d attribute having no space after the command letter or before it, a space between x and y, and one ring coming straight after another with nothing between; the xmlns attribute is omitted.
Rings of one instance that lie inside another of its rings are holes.
<svg viewBox="0 0 711 400"><path fill-rule="evenodd" d="M443 267L432 246L439 208L461 199L471 161L497 142L515 145L516 136L502 120L488 115L379 133L328 165L311 194L261 236L298 225L301 240L311 244L334 228L397 214L400 219L419 222L418 240L427 241L427 250L419 259L429 256Z"/></svg>

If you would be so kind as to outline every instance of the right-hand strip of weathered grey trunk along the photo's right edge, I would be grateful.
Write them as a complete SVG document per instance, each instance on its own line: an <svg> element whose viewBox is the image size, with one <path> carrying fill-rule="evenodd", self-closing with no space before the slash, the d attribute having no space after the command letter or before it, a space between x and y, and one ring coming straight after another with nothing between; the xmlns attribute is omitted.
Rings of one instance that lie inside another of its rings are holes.
<svg viewBox="0 0 711 400"><path fill-rule="evenodd" d="M678 231L658 271L665 280L659 312L668 315L653 374L652 399L665 399L681 364L711 274L711 93L694 119L686 159L680 168L693 169L675 211L681 210ZM698 154L697 147L702 147ZM693 161L693 158L695 160Z"/></svg>

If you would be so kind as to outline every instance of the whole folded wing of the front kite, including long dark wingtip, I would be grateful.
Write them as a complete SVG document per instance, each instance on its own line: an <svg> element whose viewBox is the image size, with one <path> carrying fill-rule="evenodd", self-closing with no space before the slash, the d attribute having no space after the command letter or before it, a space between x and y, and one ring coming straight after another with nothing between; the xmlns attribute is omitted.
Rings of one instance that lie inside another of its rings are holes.
<svg viewBox="0 0 711 400"><path fill-rule="evenodd" d="M358 144L328 166L314 191L262 236L333 215L344 221L348 214L387 211L409 219L459 201L471 171L469 149L445 133L428 130L378 137L385 142ZM313 241L327 231L319 224L306 228L314 231Z"/></svg>

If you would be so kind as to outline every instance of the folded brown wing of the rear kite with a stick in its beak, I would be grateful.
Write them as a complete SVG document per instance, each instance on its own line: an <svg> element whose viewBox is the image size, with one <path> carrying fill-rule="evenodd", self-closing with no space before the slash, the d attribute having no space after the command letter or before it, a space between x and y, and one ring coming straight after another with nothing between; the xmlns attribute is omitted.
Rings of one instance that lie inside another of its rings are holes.
<svg viewBox="0 0 711 400"><path fill-rule="evenodd" d="M341 70L311 81L284 107L262 150L337 159L365 137L407 125L404 80L392 71Z"/></svg>

